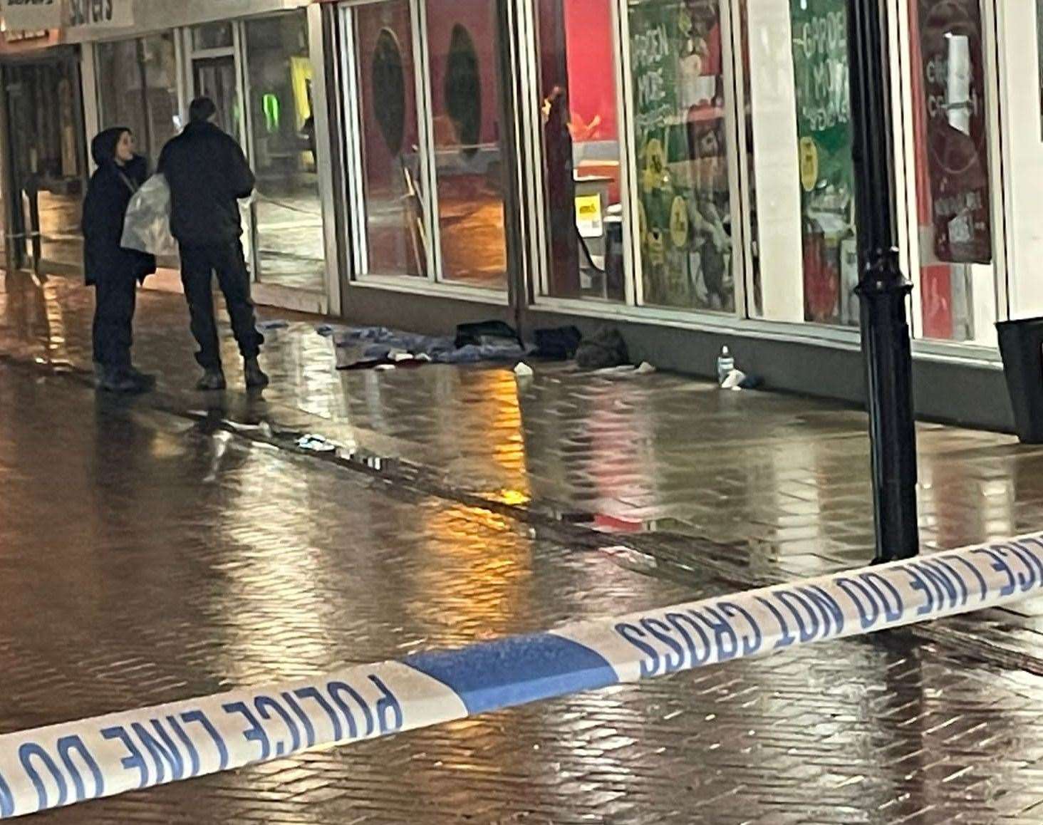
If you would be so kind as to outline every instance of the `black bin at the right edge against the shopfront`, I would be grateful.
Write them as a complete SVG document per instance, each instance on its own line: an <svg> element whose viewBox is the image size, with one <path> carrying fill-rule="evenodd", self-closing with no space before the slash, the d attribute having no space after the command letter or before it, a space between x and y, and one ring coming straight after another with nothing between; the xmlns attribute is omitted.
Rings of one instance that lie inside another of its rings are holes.
<svg viewBox="0 0 1043 825"><path fill-rule="evenodd" d="M1001 321L996 330L1018 438L1043 444L1043 318Z"/></svg>

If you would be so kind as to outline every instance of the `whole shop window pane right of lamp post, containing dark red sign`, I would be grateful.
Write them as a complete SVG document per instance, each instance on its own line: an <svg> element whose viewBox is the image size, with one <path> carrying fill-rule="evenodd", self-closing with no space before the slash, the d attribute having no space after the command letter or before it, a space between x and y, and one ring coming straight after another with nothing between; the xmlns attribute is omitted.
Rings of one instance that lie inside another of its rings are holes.
<svg viewBox="0 0 1043 825"><path fill-rule="evenodd" d="M920 334L993 340L989 116L978 0L909 4Z"/></svg>

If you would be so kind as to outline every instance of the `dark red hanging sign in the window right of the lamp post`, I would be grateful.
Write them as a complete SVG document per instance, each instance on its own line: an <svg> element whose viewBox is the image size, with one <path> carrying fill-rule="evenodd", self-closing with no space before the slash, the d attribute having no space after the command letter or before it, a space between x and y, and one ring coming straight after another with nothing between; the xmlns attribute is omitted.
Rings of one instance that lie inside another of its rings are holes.
<svg viewBox="0 0 1043 825"><path fill-rule="evenodd" d="M978 0L918 0L935 254L992 263Z"/></svg>

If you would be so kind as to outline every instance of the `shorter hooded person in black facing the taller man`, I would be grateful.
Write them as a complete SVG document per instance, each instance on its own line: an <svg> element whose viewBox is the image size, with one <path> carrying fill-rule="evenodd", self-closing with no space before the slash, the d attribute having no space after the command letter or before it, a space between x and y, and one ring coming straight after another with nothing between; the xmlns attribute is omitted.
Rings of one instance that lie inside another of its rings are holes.
<svg viewBox="0 0 1043 825"><path fill-rule="evenodd" d="M138 283L155 271L152 256L120 245L130 198L148 177L148 163L134 148L134 135L122 126L91 142L98 169L83 201L83 274L95 289L95 373L99 388L111 392L137 392L155 383L130 363Z"/></svg>

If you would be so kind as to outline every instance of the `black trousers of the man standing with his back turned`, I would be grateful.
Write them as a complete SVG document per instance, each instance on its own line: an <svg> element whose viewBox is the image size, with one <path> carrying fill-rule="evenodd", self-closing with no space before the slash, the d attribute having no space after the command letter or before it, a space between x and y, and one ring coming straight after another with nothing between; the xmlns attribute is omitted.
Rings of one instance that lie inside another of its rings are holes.
<svg viewBox="0 0 1043 825"><path fill-rule="evenodd" d="M181 283L192 318L192 335L199 344L196 361L203 369L221 367L221 344L214 318L214 273L224 295L232 331L243 358L257 358L264 337L258 332L250 300L250 274L239 241L221 246L180 244Z"/></svg>

